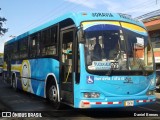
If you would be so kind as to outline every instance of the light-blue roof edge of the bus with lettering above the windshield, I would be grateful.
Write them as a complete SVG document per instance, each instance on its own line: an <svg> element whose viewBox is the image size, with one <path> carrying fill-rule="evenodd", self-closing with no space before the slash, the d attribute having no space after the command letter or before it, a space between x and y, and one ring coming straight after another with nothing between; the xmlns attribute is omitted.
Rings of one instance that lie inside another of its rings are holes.
<svg viewBox="0 0 160 120"><path fill-rule="evenodd" d="M145 28L141 21L138 21L136 19L131 18L130 16L128 16L126 14L121 14L121 13L105 13L105 12L103 12L103 13L102 12L67 13L67 14L65 14L65 15L63 15L61 17L58 17L58 18L56 18L54 20L51 20L51 21L49 21L49 22L47 22L47 23L45 23L43 25L40 25L40 26L30 30L30 31L27 31L27 32L25 32L25 33L13 38L13 39L7 41L5 43L5 45L9 44L9 43L12 43L14 41L17 41L17 40L19 40L21 38L24 38L24 37L26 37L28 35L31 35L33 33L36 33L36 32L38 32L40 30L43 30L43 29L45 29L45 28L47 28L47 27L49 27L51 25L59 23L59 22L65 20L65 19L68 19L68 18L72 19L77 27L80 25L80 23L82 21L115 20L115 21L123 21L123 22L133 23L133 24L136 24L136 25L139 25L139 26Z"/></svg>

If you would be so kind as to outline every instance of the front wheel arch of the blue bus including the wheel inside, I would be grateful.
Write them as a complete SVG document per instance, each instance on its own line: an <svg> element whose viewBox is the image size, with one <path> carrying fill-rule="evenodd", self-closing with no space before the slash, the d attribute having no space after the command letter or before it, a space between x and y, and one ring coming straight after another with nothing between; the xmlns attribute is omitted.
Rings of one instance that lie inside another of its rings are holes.
<svg viewBox="0 0 160 120"><path fill-rule="evenodd" d="M59 87L54 75L48 75L46 79L46 99L55 107L60 108Z"/></svg>

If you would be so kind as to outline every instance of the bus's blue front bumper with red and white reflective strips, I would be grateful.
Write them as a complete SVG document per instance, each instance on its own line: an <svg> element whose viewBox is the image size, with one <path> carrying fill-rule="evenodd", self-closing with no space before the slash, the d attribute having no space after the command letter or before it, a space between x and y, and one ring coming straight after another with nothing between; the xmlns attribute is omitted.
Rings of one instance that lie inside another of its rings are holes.
<svg viewBox="0 0 160 120"><path fill-rule="evenodd" d="M107 97L105 100L80 100L78 108L118 108L151 104L156 101L152 96L132 96L132 97Z"/></svg>

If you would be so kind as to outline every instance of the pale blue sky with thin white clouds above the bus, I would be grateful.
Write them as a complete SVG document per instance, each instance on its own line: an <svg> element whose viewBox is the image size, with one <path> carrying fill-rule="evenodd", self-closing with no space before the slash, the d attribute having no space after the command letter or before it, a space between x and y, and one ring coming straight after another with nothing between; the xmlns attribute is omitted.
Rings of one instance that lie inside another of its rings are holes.
<svg viewBox="0 0 160 120"><path fill-rule="evenodd" d="M0 0L0 17L7 21L8 32L0 36L4 43L67 12L115 12L133 18L160 9L160 0Z"/></svg>

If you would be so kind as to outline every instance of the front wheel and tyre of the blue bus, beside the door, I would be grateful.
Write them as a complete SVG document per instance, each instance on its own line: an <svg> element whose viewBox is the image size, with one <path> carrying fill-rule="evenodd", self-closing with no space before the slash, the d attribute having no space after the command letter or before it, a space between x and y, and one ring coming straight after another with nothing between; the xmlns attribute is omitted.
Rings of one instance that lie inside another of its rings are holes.
<svg viewBox="0 0 160 120"><path fill-rule="evenodd" d="M56 109L61 109L61 103L58 101L58 90L55 82L52 80L47 84L47 100Z"/></svg>

